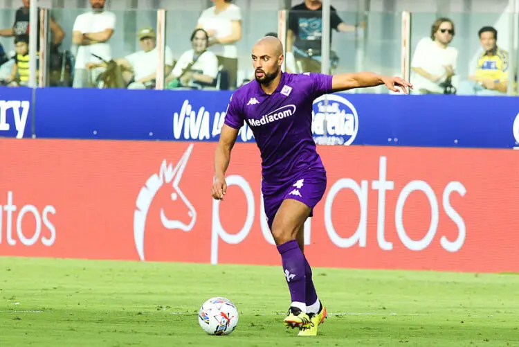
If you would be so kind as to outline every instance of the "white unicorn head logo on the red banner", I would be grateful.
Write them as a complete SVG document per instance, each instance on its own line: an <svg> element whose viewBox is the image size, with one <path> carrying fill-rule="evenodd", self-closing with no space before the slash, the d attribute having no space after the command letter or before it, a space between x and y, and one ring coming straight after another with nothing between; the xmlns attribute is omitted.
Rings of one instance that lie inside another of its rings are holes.
<svg viewBox="0 0 519 347"><path fill-rule="evenodd" d="M187 197L182 193L179 188L180 180L184 172L185 166L188 164L188 159L191 155L193 145L190 144L188 149L176 164L175 168L172 164L167 165L166 160L162 162L161 170L157 174L152 175L147 179L145 186L140 188L140 192L137 197L136 210L134 213L134 239L135 246L137 248L140 260L145 260L144 256L144 230L146 224L146 217L149 211L155 195L162 187L167 187L171 184L172 193L171 201L182 203L181 208L175 208L172 211L185 211L185 215L181 213L179 218L181 219L170 219L166 216L164 208L161 208L161 222L166 229L180 229L181 231L190 231L193 229L194 223L197 221L197 211L194 210L193 205ZM182 220L188 217L189 222L183 222Z"/></svg>

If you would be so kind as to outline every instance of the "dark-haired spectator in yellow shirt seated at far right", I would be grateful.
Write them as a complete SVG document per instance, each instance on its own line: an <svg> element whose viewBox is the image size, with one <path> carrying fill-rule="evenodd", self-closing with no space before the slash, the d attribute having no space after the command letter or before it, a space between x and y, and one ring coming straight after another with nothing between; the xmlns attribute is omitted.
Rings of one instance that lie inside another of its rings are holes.
<svg viewBox="0 0 519 347"><path fill-rule="evenodd" d="M508 88L508 52L499 48L498 30L485 26L478 32L483 53L477 60L475 75L459 84L460 95L505 95Z"/></svg>

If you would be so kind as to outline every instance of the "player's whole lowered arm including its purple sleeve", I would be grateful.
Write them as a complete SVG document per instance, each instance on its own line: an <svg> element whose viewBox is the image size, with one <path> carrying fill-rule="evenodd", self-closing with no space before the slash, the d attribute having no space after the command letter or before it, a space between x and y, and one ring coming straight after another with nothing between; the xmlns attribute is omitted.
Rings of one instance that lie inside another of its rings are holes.
<svg viewBox="0 0 519 347"><path fill-rule="evenodd" d="M239 129L244 125L244 117L237 98L230 98L224 125L221 127L220 139L215 150L215 180L212 183L211 196L213 199L224 199L226 194L226 171L230 163L230 152L238 138Z"/></svg>

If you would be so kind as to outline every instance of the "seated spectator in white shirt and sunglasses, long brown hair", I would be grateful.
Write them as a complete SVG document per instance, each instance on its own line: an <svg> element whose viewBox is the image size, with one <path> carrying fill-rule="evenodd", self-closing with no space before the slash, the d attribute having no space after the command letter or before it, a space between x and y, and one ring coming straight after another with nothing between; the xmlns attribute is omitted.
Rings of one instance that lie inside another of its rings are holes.
<svg viewBox="0 0 519 347"><path fill-rule="evenodd" d="M452 94L457 49L448 45L454 35L453 21L439 18L431 26L430 37L418 42L410 78L417 94Z"/></svg>

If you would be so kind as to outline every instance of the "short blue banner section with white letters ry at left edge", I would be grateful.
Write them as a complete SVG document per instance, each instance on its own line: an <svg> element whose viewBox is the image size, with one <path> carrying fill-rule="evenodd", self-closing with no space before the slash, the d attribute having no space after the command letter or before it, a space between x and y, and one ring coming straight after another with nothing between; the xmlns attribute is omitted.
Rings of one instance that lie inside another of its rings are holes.
<svg viewBox="0 0 519 347"><path fill-rule="evenodd" d="M30 88L0 89L0 137L21 139L32 135L32 98Z"/></svg>

